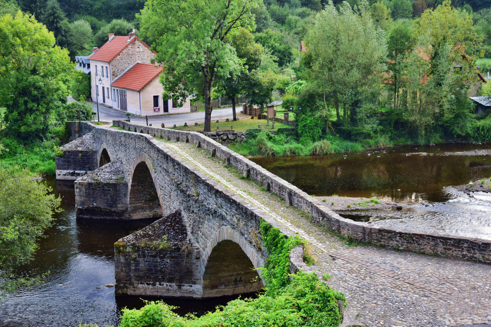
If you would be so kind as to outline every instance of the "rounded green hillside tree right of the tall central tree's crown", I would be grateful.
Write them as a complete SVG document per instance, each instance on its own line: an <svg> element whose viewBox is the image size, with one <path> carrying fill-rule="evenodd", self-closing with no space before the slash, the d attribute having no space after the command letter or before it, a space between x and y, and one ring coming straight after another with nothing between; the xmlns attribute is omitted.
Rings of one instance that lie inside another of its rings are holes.
<svg viewBox="0 0 491 327"><path fill-rule="evenodd" d="M254 34L254 42L259 43L277 59L275 62L279 67L289 64L293 60L292 46L280 31L267 29L261 33Z"/></svg>

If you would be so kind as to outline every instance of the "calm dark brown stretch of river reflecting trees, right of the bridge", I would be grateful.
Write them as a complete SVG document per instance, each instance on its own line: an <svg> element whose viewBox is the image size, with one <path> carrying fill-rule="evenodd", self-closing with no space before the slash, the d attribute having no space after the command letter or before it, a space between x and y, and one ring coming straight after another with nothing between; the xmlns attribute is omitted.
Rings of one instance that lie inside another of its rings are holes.
<svg viewBox="0 0 491 327"><path fill-rule="evenodd" d="M375 154L375 153L374 153ZM409 155L394 152L381 158L366 153L342 155L254 158L264 168L308 194L446 201L442 187L489 177L485 156ZM398 190L401 191L398 191Z"/></svg>

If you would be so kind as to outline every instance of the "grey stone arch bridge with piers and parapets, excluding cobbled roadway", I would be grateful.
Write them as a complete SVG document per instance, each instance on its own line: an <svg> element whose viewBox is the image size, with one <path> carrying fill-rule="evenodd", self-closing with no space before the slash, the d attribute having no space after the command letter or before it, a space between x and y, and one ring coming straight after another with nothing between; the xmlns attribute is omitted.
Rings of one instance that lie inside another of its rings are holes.
<svg viewBox="0 0 491 327"><path fill-rule="evenodd" d="M126 121L114 121L111 127L68 122L66 127L73 141L61 147L63 155L56 156L56 178L75 180L77 217L158 219L115 243L117 294L205 298L255 292L264 284L253 268L260 268L267 256L261 222L279 227L287 236L294 234L288 222L272 219L169 150L162 139L209 151L282 198L286 206L308 212L314 223L346 237L387 248L491 262L491 242L486 240L382 229L344 219L197 132ZM174 148L179 145L174 144ZM292 271L305 269L301 259L294 261Z"/></svg>

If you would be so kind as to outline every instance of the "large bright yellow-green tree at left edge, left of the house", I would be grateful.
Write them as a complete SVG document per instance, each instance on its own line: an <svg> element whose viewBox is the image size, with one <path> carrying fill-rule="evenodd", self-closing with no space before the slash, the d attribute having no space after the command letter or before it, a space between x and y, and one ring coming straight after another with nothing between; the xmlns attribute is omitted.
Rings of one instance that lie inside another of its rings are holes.
<svg viewBox="0 0 491 327"><path fill-rule="evenodd" d="M9 133L43 139L55 108L66 101L72 72L68 51L33 16L19 11L0 18L0 104Z"/></svg>

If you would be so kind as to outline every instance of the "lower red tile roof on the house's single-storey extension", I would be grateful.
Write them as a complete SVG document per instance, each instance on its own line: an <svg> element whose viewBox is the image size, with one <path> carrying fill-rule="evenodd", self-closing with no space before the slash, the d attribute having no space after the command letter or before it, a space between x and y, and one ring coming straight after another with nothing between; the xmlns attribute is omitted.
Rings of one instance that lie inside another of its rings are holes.
<svg viewBox="0 0 491 327"><path fill-rule="evenodd" d="M164 68L161 66L137 62L126 73L116 78L111 83L111 86L141 91L155 77L159 76L162 71L164 71Z"/></svg>

